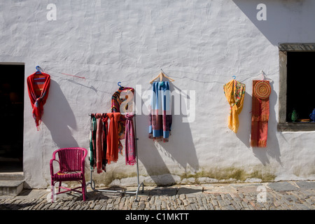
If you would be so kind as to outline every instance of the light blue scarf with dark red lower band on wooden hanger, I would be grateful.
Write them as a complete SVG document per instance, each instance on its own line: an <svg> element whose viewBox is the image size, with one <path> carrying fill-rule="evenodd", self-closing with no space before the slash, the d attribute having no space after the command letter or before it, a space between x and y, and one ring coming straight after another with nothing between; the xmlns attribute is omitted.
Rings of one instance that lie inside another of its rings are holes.
<svg viewBox="0 0 315 224"><path fill-rule="evenodd" d="M169 82L152 84L149 138L153 141L169 141L172 127L172 104Z"/></svg>

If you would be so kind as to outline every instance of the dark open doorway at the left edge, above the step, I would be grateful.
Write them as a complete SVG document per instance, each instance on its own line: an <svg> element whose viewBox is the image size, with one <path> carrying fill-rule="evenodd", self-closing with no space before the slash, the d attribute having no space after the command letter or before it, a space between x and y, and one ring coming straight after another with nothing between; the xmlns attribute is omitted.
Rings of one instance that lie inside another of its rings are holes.
<svg viewBox="0 0 315 224"><path fill-rule="evenodd" d="M24 64L0 64L0 172L23 171Z"/></svg>

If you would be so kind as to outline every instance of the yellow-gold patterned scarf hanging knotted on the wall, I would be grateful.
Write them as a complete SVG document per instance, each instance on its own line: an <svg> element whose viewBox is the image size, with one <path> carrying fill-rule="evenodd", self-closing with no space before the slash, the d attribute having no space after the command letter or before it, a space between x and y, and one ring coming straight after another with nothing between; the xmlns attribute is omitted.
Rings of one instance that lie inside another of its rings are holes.
<svg viewBox="0 0 315 224"><path fill-rule="evenodd" d="M230 104L228 127L237 133L239 129L239 113L243 109L246 86L237 80L231 80L223 86L224 94Z"/></svg>

